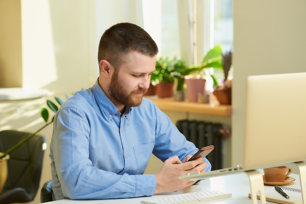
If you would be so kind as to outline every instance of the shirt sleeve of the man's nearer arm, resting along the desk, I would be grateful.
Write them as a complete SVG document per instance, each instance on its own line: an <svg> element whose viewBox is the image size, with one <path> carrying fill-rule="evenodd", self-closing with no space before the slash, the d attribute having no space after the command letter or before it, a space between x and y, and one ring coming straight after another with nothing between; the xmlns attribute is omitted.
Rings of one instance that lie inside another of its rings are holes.
<svg viewBox="0 0 306 204"><path fill-rule="evenodd" d="M86 116L76 108L59 111L54 120L52 154L64 197L111 199L154 194L154 175L119 175L93 166L90 161Z"/></svg>

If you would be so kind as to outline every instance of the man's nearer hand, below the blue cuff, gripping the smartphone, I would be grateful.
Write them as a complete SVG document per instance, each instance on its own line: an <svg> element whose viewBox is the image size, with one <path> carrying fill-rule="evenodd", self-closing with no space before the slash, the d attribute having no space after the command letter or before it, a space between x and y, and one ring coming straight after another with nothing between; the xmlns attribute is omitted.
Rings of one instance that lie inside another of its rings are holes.
<svg viewBox="0 0 306 204"><path fill-rule="evenodd" d="M185 158L184 163L182 163L176 156L171 157L164 162L159 172L155 175L155 193L173 192L197 182L188 179L179 180L178 177L185 176L192 172L202 173L204 172L207 163L203 162L202 157L191 162L186 162L187 158L188 156Z"/></svg>

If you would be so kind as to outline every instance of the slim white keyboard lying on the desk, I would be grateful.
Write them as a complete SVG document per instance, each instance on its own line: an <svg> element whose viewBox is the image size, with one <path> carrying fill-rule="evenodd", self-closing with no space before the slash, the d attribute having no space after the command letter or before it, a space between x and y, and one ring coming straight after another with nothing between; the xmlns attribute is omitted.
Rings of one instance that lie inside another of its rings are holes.
<svg viewBox="0 0 306 204"><path fill-rule="evenodd" d="M204 190L192 193L183 193L177 195L170 195L160 198L152 198L143 200L143 204L196 204L204 201L213 201L221 198L232 197L231 193L223 193L213 190Z"/></svg>

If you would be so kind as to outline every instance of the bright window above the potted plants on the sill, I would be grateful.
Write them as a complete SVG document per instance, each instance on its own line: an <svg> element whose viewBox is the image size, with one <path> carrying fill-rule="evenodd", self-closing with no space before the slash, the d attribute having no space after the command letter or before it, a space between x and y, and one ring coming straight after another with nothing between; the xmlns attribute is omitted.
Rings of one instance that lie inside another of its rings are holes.
<svg viewBox="0 0 306 204"><path fill-rule="evenodd" d="M159 56L194 63L195 12L197 63L216 44L221 44L223 52L233 50L233 0L142 0L142 7L144 28L156 41ZM222 71L214 74L223 79Z"/></svg>

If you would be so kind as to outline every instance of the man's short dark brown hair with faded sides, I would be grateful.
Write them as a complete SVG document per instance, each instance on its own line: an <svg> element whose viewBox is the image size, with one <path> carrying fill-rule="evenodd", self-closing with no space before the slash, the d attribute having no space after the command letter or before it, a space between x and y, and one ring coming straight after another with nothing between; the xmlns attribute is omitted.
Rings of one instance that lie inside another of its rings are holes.
<svg viewBox="0 0 306 204"><path fill-rule="evenodd" d="M128 22L117 23L107 29L100 39L98 62L107 60L119 68L131 51L153 57L157 55L158 47L140 26Z"/></svg>

